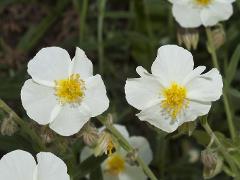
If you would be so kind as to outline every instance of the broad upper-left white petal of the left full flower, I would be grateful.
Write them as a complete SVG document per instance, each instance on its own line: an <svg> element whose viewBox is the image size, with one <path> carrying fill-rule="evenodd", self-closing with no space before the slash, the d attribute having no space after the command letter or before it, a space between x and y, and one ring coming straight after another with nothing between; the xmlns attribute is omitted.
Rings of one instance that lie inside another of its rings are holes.
<svg viewBox="0 0 240 180"><path fill-rule="evenodd" d="M28 63L28 73L33 79L53 82L68 77L71 59L68 52L59 47L41 49Z"/></svg>

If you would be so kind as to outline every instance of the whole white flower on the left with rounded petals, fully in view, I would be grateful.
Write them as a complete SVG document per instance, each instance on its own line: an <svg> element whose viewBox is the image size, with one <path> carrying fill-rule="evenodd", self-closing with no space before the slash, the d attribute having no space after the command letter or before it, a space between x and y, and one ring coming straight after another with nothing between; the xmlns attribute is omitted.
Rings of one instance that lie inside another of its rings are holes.
<svg viewBox="0 0 240 180"><path fill-rule="evenodd" d="M28 63L28 73L32 79L22 87L23 107L31 119L60 135L77 133L109 106L102 78L93 76L92 62L80 48L72 61L62 48L43 48Z"/></svg>

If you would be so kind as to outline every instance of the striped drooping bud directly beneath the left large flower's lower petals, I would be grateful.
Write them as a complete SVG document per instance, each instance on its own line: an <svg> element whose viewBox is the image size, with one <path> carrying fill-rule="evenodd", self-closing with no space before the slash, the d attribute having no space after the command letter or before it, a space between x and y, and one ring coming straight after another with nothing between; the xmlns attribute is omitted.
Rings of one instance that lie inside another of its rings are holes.
<svg viewBox="0 0 240 180"><path fill-rule="evenodd" d="M80 137L86 145L93 147L98 140L98 130L91 122L87 122L80 131Z"/></svg>

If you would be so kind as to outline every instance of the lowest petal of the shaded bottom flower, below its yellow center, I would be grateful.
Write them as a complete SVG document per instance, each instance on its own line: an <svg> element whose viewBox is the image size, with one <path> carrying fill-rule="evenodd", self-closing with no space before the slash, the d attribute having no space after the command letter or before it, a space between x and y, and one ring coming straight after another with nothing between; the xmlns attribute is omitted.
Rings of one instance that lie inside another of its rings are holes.
<svg viewBox="0 0 240 180"><path fill-rule="evenodd" d="M147 176L143 170L137 166L126 164L125 171L119 174L119 180L146 180Z"/></svg>

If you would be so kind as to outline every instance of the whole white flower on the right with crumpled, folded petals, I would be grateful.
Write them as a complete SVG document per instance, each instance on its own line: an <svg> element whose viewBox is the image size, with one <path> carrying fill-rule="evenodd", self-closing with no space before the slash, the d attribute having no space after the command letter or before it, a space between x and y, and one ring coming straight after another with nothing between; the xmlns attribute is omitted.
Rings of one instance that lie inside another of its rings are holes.
<svg viewBox="0 0 240 180"><path fill-rule="evenodd" d="M205 66L193 69L192 54L176 45L158 49L149 74L137 67L140 78L128 79L126 99L141 110L142 121L173 132L184 122L205 115L211 102L222 95L222 77L217 69L201 74Z"/></svg>

